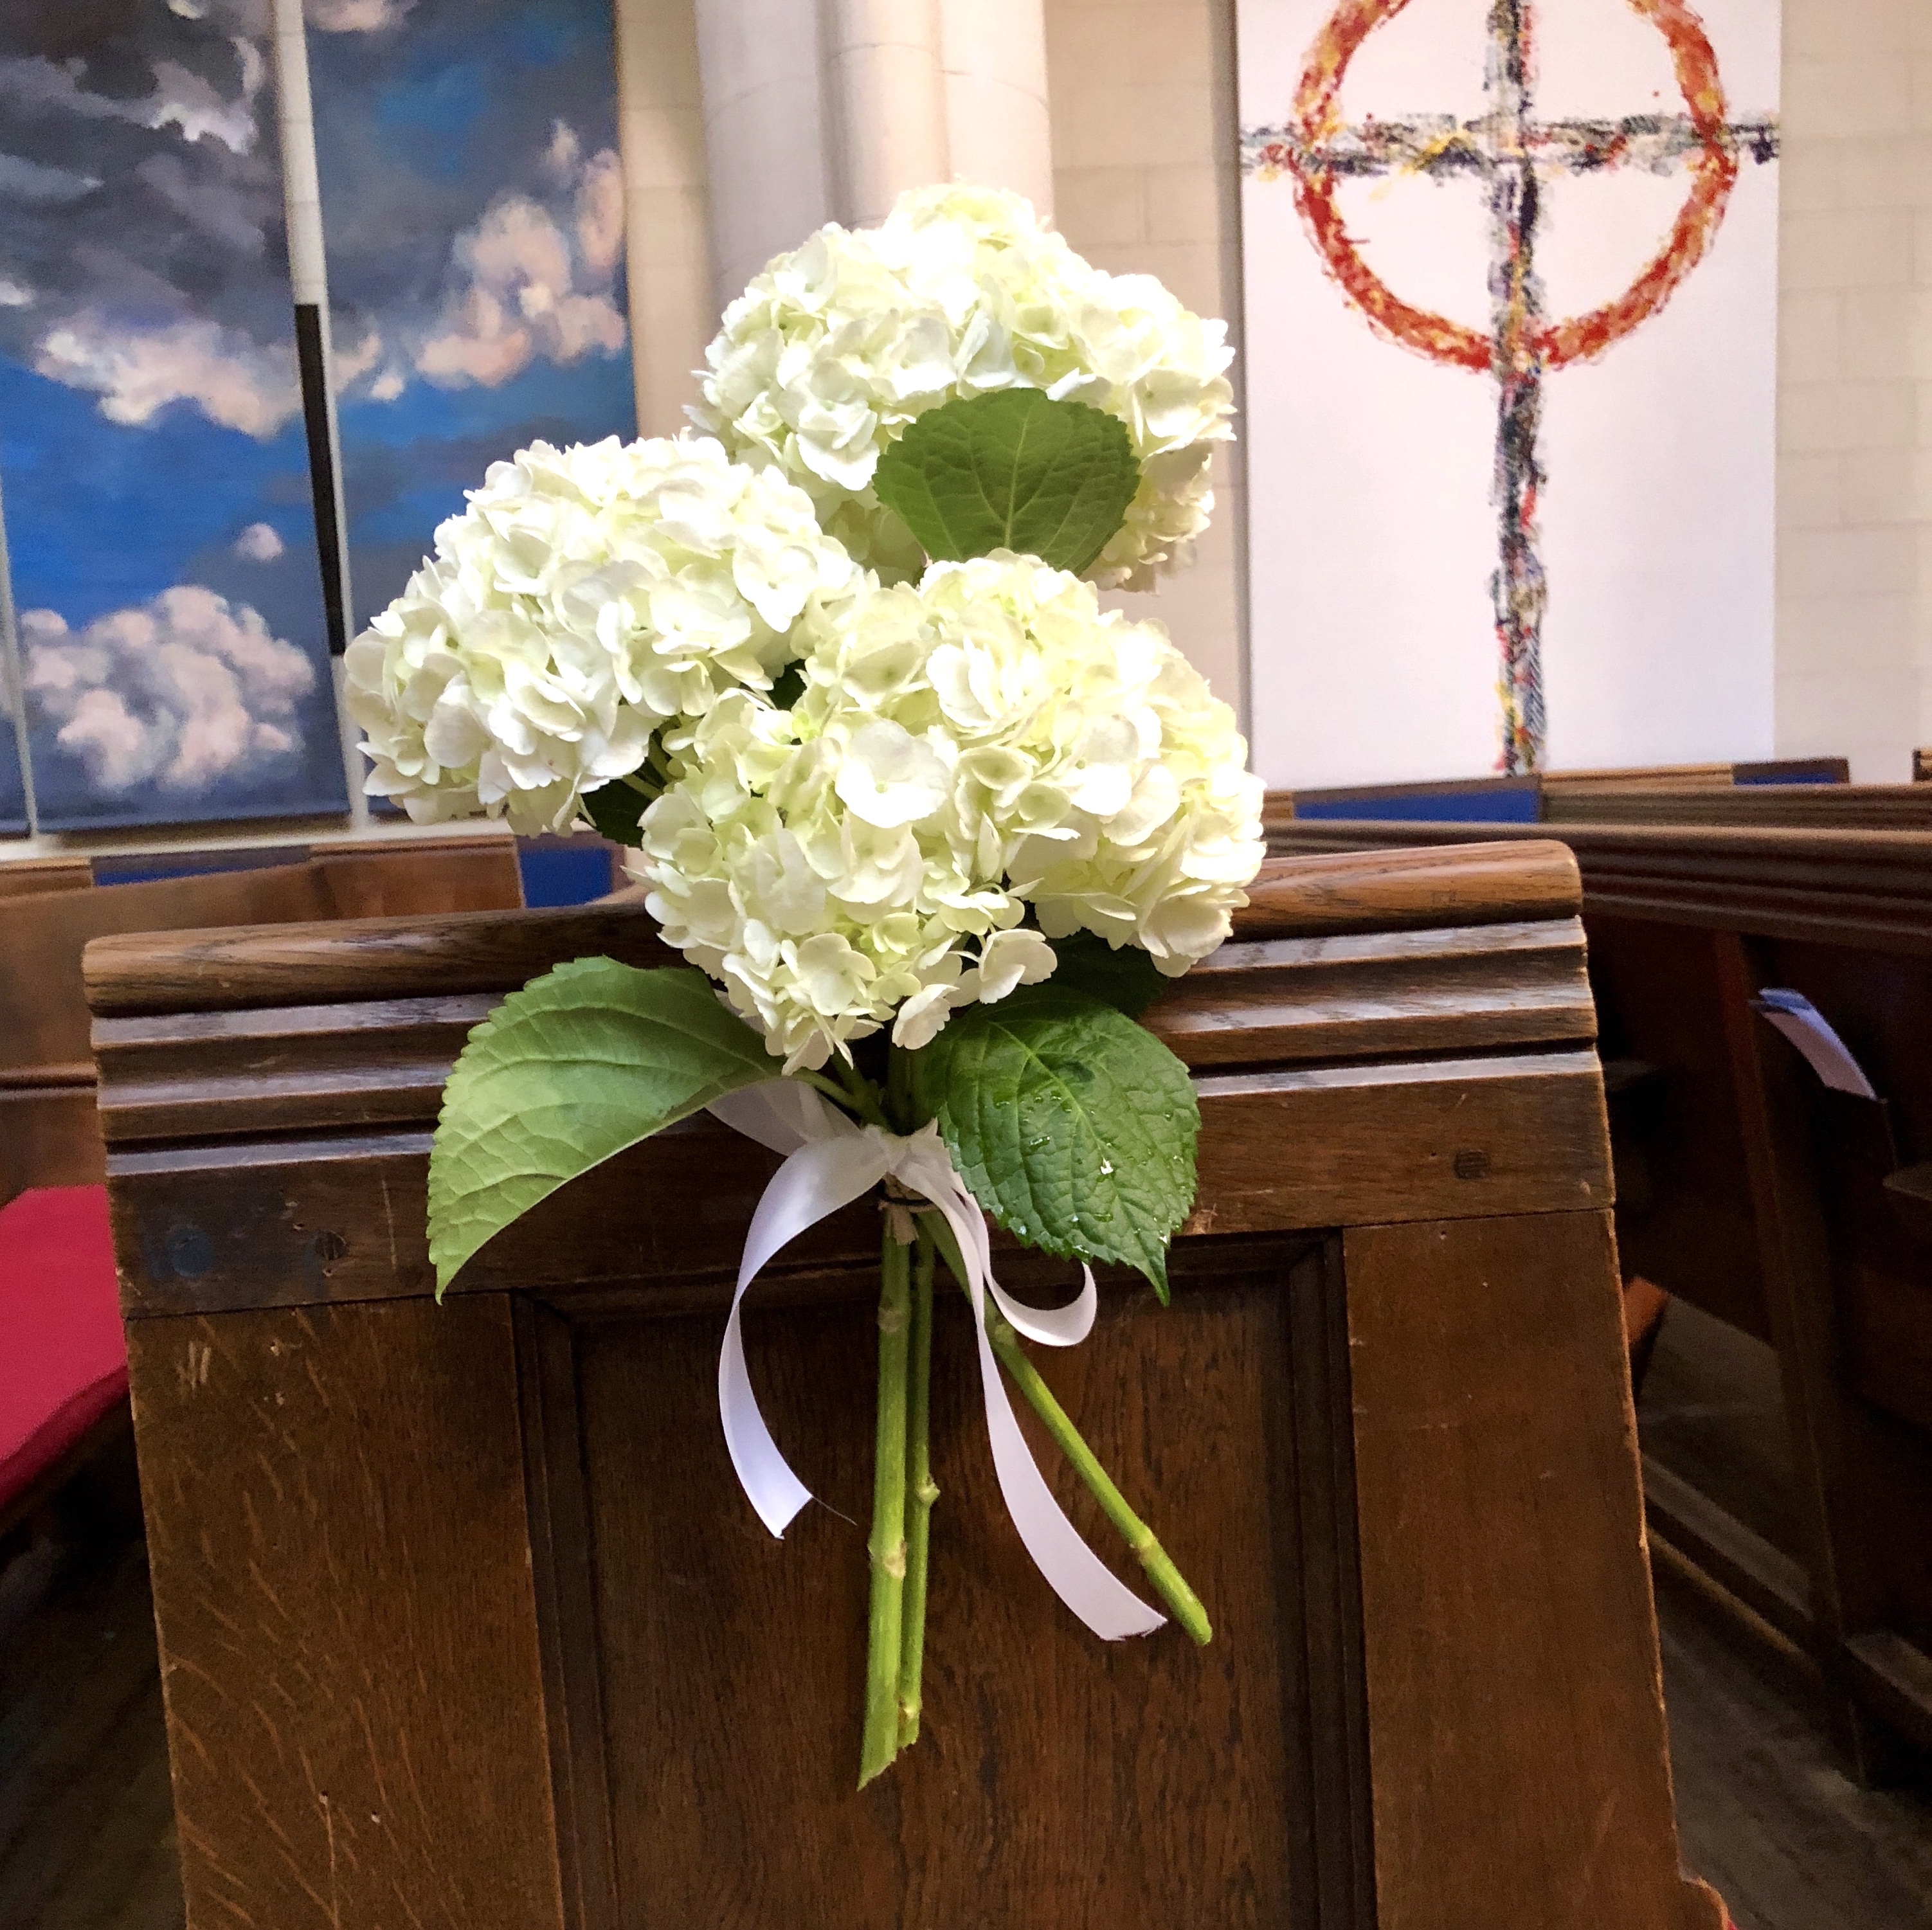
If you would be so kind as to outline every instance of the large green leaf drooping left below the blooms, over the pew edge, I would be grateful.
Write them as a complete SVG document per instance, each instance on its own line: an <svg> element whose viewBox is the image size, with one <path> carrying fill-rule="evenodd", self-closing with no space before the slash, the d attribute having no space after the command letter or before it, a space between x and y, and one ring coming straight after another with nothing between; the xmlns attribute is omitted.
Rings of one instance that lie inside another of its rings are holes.
<svg viewBox="0 0 1932 1930"><path fill-rule="evenodd" d="M576 958L533 978L469 1034L442 1088L429 1153L437 1292L564 1180L775 1076L765 1041L703 972Z"/></svg>

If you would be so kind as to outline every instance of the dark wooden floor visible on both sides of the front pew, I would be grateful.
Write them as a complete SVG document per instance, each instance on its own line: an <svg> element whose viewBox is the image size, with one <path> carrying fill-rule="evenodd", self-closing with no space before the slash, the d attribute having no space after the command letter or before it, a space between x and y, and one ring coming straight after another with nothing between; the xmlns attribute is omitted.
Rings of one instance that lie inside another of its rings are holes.
<svg viewBox="0 0 1932 1930"><path fill-rule="evenodd" d="M1712 1379L1700 1339L1687 1321L1660 1345L1646 1447L1721 1459L1729 1410L1776 1462L1748 1372ZM1662 1573L1658 1617L1685 1860L1739 1930L1932 1930L1932 1789L1853 1787L1803 1677L1694 1586ZM110 1542L0 1627L0 1930L180 1924L147 1563Z"/></svg>

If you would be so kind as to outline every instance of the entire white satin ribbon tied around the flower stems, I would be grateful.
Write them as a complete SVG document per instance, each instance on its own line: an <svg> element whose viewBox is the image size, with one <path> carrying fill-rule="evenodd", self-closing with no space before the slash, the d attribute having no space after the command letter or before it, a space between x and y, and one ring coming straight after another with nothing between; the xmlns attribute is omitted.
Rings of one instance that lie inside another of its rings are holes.
<svg viewBox="0 0 1932 1930"><path fill-rule="evenodd" d="M757 1395L752 1393L738 1320L744 1291L781 1246L871 1192L891 1175L910 1192L931 1200L958 1240L966 1262L974 1333L980 1341L980 1385L985 1395L993 1468L999 1474L1007 1513L1020 1530L1034 1565L1097 1636L1119 1642L1159 1629L1167 1617L1148 1607L1132 1588L1113 1576L1053 1499L1026 1435L1020 1433L1007 1383L993 1356L993 1343L985 1333L985 1294L991 1292L1001 1314L1030 1341L1039 1341L1043 1347L1078 1347L1094 1329L1094 1314L1099 1308L1092 1269L1080 1269L1086 1279L1072 1306L1043 1314L1012 1300L993 1279L985 1215L947 1157L937 1126L923 1126L912 1138L862 1126L827 1105L810 1086L784 1078L746 1086L719 1099L711 1111L734 1132L786 1155L752 1215L744 1260L738 1263L738 1291L732 1294L730 1320L724 1323L724 1347L719 1350L719 1418L724 1424L724 1445L759 1520L782 1536L792 1517L811 1499L811 1491L779 1453L757 1408Z"/></svg>

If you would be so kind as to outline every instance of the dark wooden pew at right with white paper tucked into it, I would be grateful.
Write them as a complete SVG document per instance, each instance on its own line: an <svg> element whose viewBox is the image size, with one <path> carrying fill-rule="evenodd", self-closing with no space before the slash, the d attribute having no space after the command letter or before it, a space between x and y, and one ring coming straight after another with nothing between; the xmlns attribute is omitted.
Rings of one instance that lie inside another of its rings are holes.
<svg viewBox="0 0 1932 1930"><path fill-rule="evenodd" d="M1277 823L1281 850L1561 837L1584 885L1623 1267L1770 1343L1795 1470L1779 1547L1646 1464L1658 1534L1822 1669L1882 1775L1932 1746L1932 835L1735 825ZM1750 1008L1803 991L1882 1103Z"/></svg>

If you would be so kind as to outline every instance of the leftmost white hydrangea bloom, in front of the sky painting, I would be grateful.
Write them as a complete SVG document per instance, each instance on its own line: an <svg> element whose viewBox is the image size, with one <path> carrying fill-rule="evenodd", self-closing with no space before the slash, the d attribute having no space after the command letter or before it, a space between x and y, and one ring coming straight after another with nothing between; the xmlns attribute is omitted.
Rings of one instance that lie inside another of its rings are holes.
<svg viewBox="0 0 1932 1930"><path fill-rule="evenodd" d="M562 831L659 724L769 690L806 601L856 582L800 489L709 439L533 442L348 649L367 790Z"/></svg>

